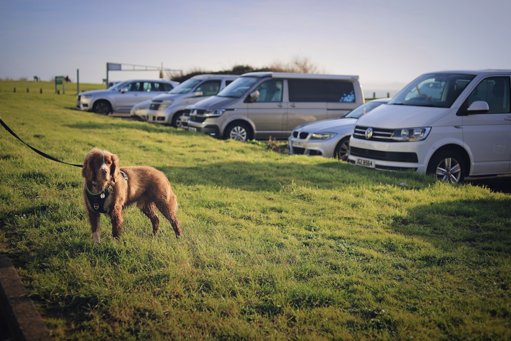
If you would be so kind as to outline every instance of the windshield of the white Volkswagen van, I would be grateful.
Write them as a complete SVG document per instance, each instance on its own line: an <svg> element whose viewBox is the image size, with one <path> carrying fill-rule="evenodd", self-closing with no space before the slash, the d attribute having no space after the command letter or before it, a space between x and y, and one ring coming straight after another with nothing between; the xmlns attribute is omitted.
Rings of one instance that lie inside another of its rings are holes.
<svg viewBox="0 0 511 341"><path fill-rule="evenodd" d="M475 75L425 74L413 80L389 104L449 108Z"/></svg>

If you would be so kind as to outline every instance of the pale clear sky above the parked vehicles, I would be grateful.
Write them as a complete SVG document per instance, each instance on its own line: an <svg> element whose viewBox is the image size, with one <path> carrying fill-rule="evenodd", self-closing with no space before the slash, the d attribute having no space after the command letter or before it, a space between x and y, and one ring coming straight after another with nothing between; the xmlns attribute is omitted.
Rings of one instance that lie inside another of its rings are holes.
<svg viewBox="0 0 511 341"><path fill-rule="evenodd" d="M107 62L188 73L300 58L393 92L425 72L511 69L509 13L509 0L0 0L0 78L79 70L101 83Z"/></svg>

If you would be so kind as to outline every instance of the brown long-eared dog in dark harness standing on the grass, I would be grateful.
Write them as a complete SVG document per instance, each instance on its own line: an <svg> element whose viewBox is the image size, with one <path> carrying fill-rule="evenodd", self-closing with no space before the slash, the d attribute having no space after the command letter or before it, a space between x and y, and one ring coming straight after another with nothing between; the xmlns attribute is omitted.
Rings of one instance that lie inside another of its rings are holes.
<svg viewBox="0 0 511 341"><path fill-rule="evenodd" d="M136 207L151 219L153 234L158 233L157 208L171 223L176 237L182 235L177 220L177 199L164 173L152 167L119 168L119 157L99 148L91 149L83 162L85 178L82 196L92 230L92 241L99 243L100 213L112 221L112 237L118 239L124 221L123 208Z"/></svg>

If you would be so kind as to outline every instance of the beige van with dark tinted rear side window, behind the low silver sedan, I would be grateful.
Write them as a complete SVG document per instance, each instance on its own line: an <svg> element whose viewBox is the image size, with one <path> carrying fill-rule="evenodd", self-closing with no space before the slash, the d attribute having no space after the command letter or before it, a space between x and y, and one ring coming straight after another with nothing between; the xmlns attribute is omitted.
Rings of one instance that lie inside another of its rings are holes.
<svg viewBox="0 0 511 341"><path fill-rule="evenodd" d="M287 139L300 124L342 117L362 103L358 76L251 72L195 103L188 130L238 141Z"/></svg>

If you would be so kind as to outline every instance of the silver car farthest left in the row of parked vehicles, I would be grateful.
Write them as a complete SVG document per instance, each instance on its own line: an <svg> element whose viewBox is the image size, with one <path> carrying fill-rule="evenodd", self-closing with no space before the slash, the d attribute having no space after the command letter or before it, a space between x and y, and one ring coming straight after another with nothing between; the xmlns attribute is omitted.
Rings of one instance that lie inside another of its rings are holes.
<svg viewBox="0 0 511 341"><path fill-rule="evenodd" d="M137 103L172 90L178 82L167 80L128 80L104 90L85 91L76 97L76 108L108 115L110 112L130 112Z"/></svg>

